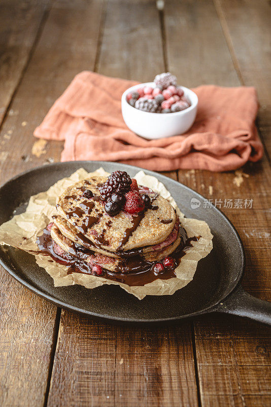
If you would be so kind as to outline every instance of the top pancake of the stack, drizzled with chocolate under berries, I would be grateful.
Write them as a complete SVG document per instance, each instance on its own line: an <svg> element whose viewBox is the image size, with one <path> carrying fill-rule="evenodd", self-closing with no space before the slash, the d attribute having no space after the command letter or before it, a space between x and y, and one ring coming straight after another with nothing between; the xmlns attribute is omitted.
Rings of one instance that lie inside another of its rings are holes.
<svg viewBox="0 0 271 407"><path fill-rule="evenodd" d="M164 242L176 221L176 213L170 203L150 191L152 205L144 214L130 215L121 211L111 217L106 213L98 191L98 186L106 180L107 177L92 176L67 188L57 199L58 214L92 243L111 252ZM86 189L94 196L83 197Z"/></svg>

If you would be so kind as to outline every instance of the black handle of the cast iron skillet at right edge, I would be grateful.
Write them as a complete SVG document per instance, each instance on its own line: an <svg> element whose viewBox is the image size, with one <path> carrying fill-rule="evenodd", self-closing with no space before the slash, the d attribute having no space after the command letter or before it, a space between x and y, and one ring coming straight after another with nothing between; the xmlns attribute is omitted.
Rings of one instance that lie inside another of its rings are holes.
<svg viewBox="0 0 271 407"><path fill-rule="evenodd" d="M246 316L271 325L271 302L252 297L241 284L218 305L216 311Z"/></svg>

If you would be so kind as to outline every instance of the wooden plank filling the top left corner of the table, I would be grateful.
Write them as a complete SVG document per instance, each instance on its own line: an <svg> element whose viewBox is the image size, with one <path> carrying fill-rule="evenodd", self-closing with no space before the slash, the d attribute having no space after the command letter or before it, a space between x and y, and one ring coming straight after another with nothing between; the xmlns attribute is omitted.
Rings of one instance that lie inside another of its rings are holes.
<svg viewBox="0 0 271 407"><path fill-rule="evenodd" d="M47 8L48 0L20 4L16 0L4 0L0 4L0 124L27 65Z"/></svg>

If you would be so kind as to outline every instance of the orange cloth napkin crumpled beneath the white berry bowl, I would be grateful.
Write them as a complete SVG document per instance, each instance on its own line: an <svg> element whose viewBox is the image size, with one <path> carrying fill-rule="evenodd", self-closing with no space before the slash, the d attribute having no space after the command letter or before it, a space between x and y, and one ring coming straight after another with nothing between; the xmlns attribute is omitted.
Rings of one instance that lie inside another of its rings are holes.
<svg viewBox="0 0 271 407"><path fill-rule="evenodd" d="M147 140L130 131L121 114L121 95L136 83L79 73L34 135L65 140L61 161L119 161L159 171L226 171L262 157L254 123L258 109L254 88L198 86L193 89L199 103L191 129L183 135Z"/></svg>

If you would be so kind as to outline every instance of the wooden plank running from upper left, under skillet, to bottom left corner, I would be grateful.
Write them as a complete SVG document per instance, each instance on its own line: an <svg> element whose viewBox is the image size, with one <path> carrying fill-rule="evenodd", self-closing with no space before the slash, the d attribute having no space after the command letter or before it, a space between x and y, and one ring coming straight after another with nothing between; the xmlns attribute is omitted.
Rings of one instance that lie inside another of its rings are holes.
<svg viewBox="0 0 271 407"><path fill-rule="evenodd" d="M31 154L37 141L32 132L73 76L94 66L101 8L98 0L60 1L52 8L2 128L0 183L48 159L59 161L61 143L47 143L40 156L37 150ZM0 404L42 406L54 325L57 331L59 324L56 307L21 287L2 268L0 280Z"/></svg>

